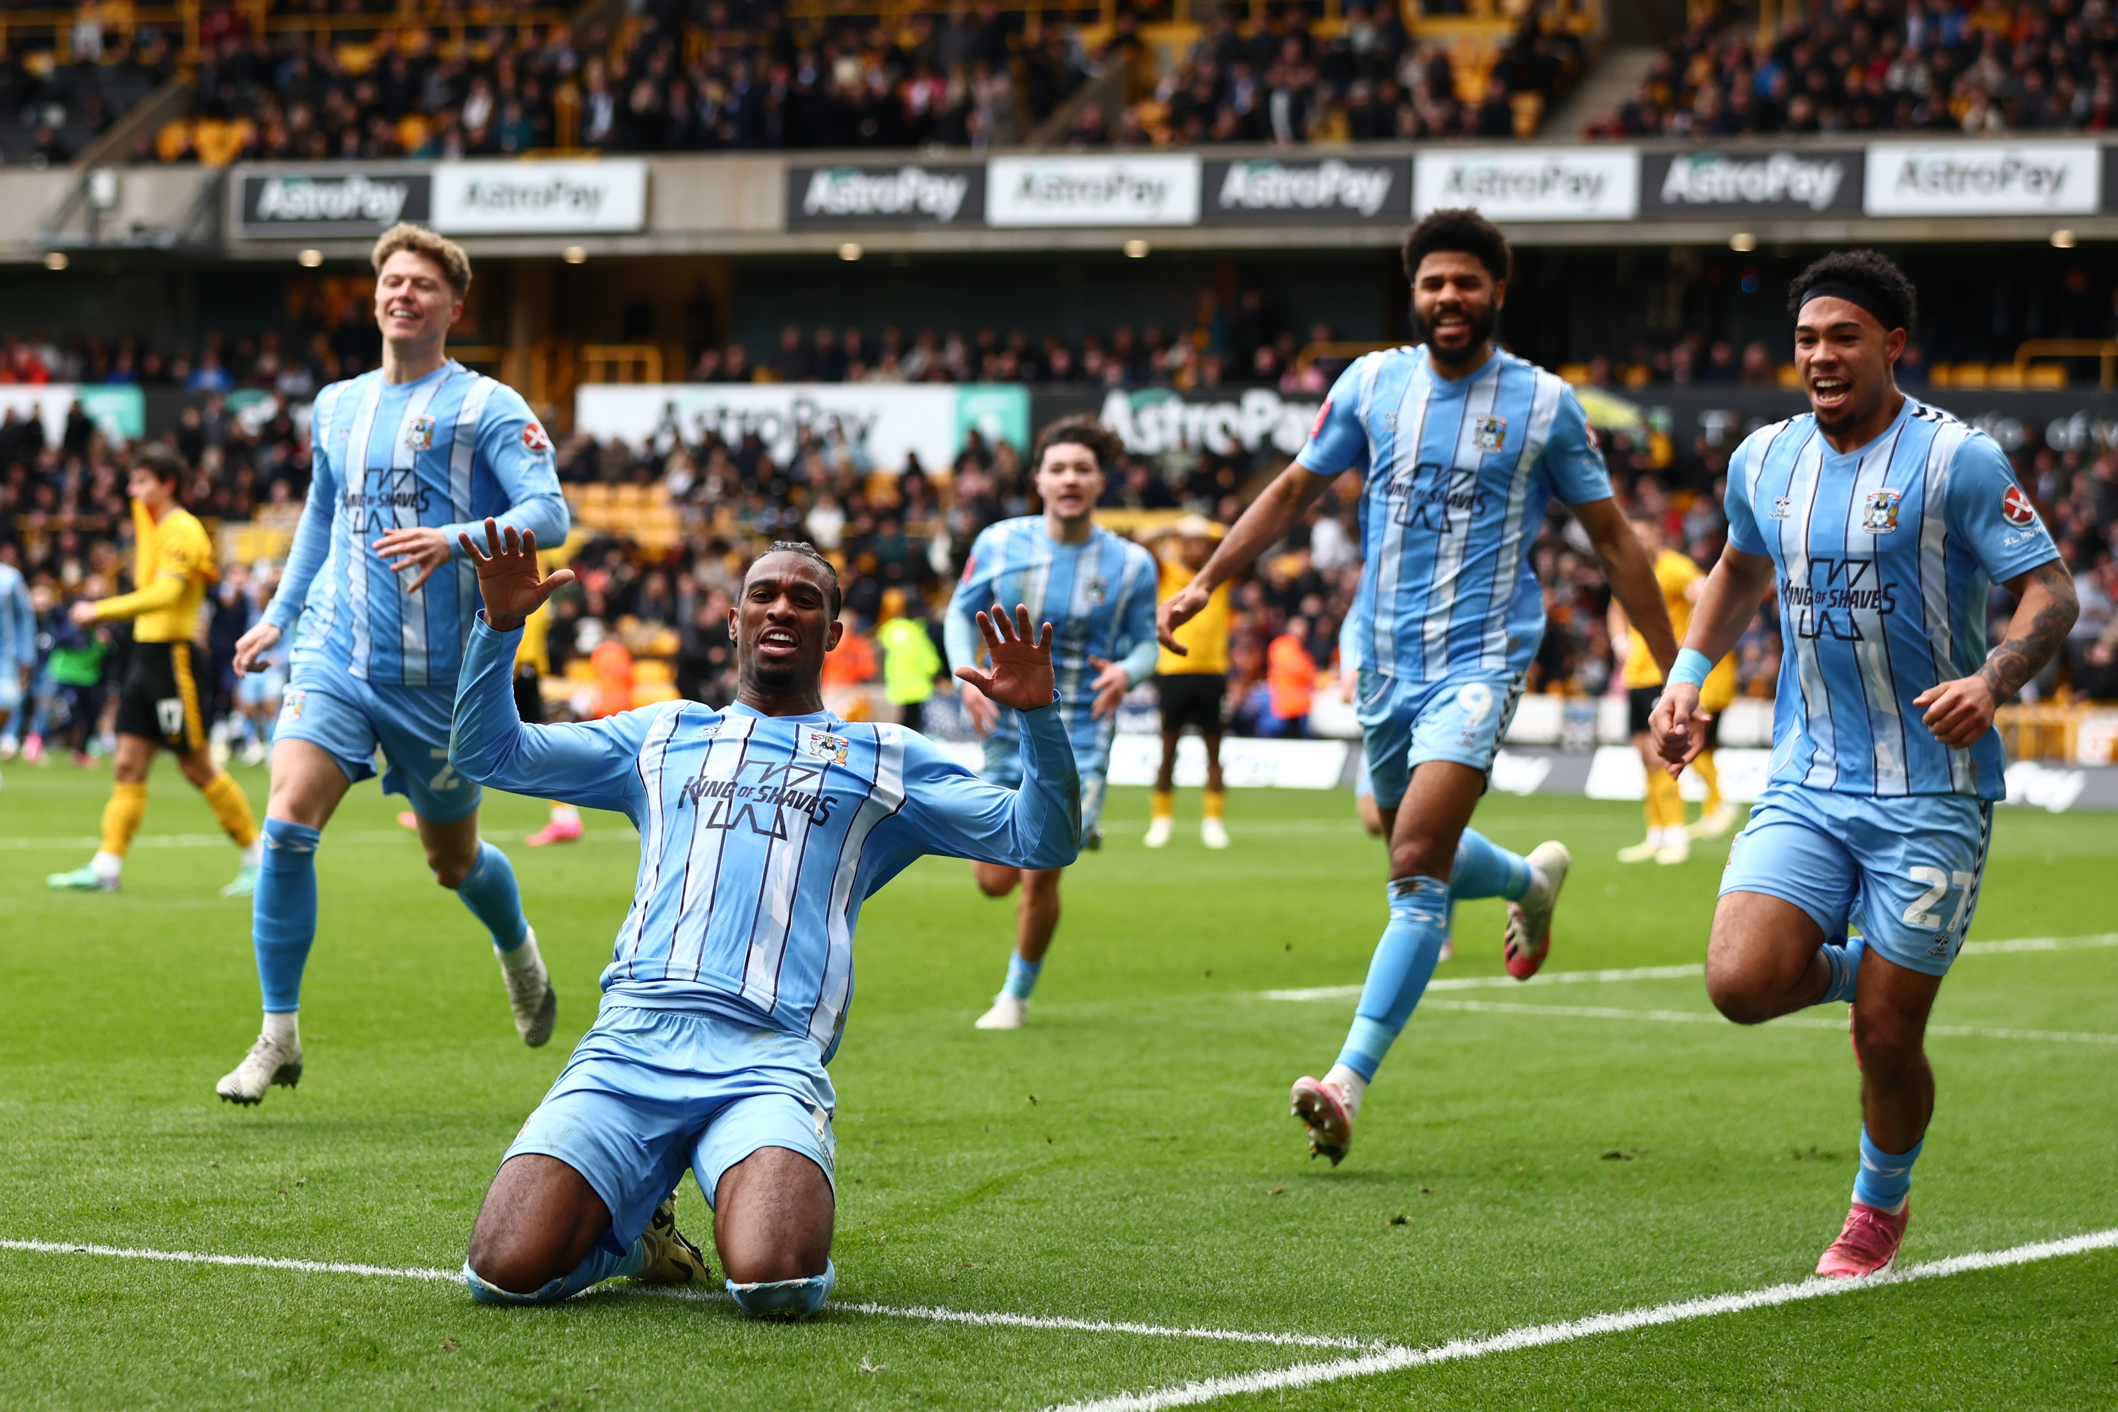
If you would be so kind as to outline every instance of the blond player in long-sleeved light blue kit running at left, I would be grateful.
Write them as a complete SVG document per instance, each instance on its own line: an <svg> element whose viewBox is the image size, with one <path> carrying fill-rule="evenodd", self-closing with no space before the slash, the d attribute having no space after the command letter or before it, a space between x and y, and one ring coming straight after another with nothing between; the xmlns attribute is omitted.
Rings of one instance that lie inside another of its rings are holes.
<svg viewBox="0 0 2118 1412"><path fill-rule="evenodd" d="M551 439L517 392L443 350L470 288L462 246L396 225L373 263L383 365L318 392L309 502L286 575L265 621L235 645L235 670L258 670L299 621L252 912L265 1030L216 1086L231 1102L301 1079L316 846L345 791L375 774L377 746L383 791L411 799L434 882L493 937L523 1043L551 1039L557 1016L515 869L479 840L479 787L449 765L455 672L477 611L477 575L455 558L455 534L498 515L561 543L568 513Z"/></svg>

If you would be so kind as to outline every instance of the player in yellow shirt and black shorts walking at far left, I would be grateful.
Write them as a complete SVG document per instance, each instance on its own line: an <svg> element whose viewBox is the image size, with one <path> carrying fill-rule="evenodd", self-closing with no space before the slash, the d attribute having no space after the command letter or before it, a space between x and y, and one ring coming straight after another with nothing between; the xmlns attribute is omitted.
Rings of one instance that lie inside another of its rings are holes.
<svg viewBox="0 0 2118 1412"><path fill-rule="evenodd" d="M131 619L133 647L119 681L119 751L110 765L110 801L104 806L104 837L95 857L70 873L51 873L44 884L59 890L116 893L125 873L125 852L146 816L146 776L155 751L176 755L176 767L191 780L214 818L244 854L235 882L222 897L248 897L258 878L258 827L250 799L227 770L214 765L205 748L205 714L199 710L199 678L193 670L191 634L199 625L205 585L214 581L214 541L205 526L176 502L184 462L176 452L150 445L125 477L133 509L133 592L116 598L80 598L68 608L74 628Z"/></svg>

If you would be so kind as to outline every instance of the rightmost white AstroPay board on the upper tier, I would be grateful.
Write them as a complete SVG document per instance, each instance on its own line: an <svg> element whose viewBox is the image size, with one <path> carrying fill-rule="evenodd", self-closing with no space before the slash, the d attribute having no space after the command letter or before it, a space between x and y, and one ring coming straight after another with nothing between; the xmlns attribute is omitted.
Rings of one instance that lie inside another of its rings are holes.
<svg viewBox="0 0 2118 1412"><path fill-rule="evenodd" d="M1870 216L2086 216L2103 197L2095 142L1877 142Z"/></svg>

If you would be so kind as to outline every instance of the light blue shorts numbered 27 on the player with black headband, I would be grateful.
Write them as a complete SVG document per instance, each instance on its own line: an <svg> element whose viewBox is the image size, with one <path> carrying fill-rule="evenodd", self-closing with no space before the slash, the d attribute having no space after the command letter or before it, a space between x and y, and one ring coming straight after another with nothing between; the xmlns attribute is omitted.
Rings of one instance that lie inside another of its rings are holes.
<svg viewBox="0 0 2118 1412"><path fill-rule="evenodd" d="M1978 914L1993 806L1970 795L1841 795L1773 782L1728 846L1722 897L1764 893L1824 929L1860 926L1900 967L1946 975Z"/></svg>

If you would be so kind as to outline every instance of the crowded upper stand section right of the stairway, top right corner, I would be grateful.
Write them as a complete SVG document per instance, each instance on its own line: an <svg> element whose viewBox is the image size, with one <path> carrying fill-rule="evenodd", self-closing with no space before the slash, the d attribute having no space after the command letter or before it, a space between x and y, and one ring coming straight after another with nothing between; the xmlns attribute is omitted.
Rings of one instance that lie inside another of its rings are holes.
<svg viewBox="0 0 2118 1412"><path fill-rule="evenodd" d="M1591 138L1819 131L2105 131L2118 121L2110 0L1824 0L1690 30Z"/></svg>

